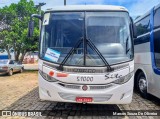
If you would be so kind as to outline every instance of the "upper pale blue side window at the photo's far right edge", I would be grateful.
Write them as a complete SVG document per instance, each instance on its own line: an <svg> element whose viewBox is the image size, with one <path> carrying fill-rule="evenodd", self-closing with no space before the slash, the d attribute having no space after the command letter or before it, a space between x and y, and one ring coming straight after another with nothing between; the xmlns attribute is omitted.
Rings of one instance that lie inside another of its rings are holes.
<svg viewBox="0 0 160 119"><path fill-rule="evenodd" d="M160 8L155 11L154 28L160 27Z"/></svg>

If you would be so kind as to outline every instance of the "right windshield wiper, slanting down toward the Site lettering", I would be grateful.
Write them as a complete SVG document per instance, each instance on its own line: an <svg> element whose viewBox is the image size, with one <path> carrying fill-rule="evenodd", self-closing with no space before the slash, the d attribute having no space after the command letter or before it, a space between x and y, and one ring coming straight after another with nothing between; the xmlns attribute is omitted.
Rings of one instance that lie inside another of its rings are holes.
<svg viewBox="0 0 160 119"><path fill-rule="evenodd" d="M114 69L111 68L111 66L109 65L109 63L107 62L107 60L103 57L102 53L97 49L97 47L92 43L92 41L90 39L86 39L86 40L87 40L87 44L90 46L90 48L92 50L94 50L99 55L99 57L101 58L101 60L107 66L107 71L108 72L113 71Z"/></svg>

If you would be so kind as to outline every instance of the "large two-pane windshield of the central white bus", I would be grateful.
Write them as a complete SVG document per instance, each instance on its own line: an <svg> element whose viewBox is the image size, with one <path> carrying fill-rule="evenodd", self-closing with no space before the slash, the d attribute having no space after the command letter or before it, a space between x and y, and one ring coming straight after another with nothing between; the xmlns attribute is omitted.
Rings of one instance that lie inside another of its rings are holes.
<svg viewBox="0 0 160 119"><path fill-rule="evenodd" d="M90 40L112 65L133 59L127 12L52 12L44 15L40 58L62 63L79 40L82 42L65 65L104 66L101 57L87 44ZM85 56L84 56L85 51Z"/></svg>

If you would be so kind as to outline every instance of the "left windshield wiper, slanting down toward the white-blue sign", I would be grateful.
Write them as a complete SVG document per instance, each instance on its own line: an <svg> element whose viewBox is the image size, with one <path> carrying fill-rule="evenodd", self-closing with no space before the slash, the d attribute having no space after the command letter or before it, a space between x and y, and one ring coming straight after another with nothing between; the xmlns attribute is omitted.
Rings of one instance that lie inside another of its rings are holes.
<svg viewBox="0 0 160 119"><path fill-rule="evenodd" d="M58 69L63 71L63 65L67 62L68 58L76 51L76 49L80 46L82 43L83 38L77 41L74 47L69 51L69 53L66 55L66 57L63 59L63 61L60 63Z"/></svg>

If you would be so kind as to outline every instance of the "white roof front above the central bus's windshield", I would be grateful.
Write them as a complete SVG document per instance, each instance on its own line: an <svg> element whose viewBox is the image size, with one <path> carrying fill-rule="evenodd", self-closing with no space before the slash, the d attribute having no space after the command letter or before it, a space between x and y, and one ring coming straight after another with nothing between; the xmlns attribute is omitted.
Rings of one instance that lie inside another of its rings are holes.
<svg viewBox="0 0 160 119"><path fill-rule="evenodd" d="M122 6L113 5L66 5L55 6L47 9L46 12L51 11L126 11L128 10Z"/></svg>

